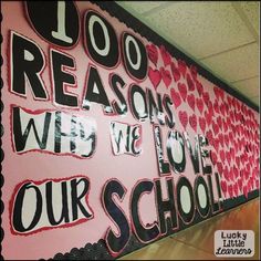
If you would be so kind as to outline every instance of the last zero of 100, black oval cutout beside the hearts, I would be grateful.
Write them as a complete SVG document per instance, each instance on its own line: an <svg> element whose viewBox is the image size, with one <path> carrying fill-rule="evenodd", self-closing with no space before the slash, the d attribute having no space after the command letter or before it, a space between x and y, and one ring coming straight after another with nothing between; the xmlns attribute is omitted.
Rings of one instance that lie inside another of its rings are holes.
<svg viewBox="0 0 261 261"><path fill-rule="evenodd" d="M139 39L127 32L123 33L123 58L128 74L137 81L147 76L148 58L147 52Z"/></svg>

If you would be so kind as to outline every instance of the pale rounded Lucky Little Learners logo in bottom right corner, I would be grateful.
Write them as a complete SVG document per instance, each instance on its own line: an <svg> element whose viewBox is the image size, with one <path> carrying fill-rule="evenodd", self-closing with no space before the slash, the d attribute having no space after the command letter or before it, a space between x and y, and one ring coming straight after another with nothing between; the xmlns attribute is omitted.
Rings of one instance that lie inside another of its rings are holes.
<svg viewBox="0 0 261 261"><path fill-rule="evenodd" d="M217 230L215 232L215 255L248 258L254 254L254 232L252 230Z"/></svg>

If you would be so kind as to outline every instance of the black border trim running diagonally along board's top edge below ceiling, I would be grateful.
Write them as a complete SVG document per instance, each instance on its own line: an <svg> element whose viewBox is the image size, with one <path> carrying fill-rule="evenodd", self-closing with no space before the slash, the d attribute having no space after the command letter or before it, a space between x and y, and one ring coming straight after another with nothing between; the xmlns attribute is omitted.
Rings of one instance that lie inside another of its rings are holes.
<svg viewBox="0 0 261 261"><path fill-rule="evenodd" d="M91 1L92 3L98 6L102 10L107 11L112 17L115 17L121 22L125 23L128 28L133 29L136 33L140 34L142 36L146 38L148 41L153 42L154 44L160 46L161 44L165 45L166 50L177 60L185 60L187 65L195 65L198 69L198 73L201 76L206 77L212 84L217 85L218 87L222 88L227 93L231 94L233 97L237 97L239 101L247 104L249 107L253 108L255 112L260 113L259 106L251 102L249 98L243 96L241 93L237 92L236 90L231 88L227 83L222 80L215 76L211 72L205 69L202 65L198 64L187 54L182 53L178 48L170 44L167 40L163 36L158 35L153 29L148 28L137 18L133 17L128 11L124 8L118 6L114 1Z"/></svg>

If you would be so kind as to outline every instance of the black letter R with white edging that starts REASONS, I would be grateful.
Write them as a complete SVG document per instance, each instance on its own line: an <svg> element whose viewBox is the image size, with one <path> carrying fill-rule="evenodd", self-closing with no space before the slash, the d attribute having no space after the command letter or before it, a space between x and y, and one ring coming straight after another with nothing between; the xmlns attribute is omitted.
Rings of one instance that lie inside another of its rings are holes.
<svg viewBox="0 0 261 261"><path fill-rule="evenodd" d="M48 100L41 79L45 65L43 51L31 40L11 31L11 92L27 96L25 82L35 100Z"/></svg>

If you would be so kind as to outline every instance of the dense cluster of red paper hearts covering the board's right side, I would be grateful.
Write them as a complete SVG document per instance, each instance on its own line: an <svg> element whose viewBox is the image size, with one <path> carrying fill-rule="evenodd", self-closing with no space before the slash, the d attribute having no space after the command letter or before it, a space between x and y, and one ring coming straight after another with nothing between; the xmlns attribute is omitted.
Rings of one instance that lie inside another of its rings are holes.
<svg viewBox="0 0 261 261"><path fill-rule="evenodd" d="M171 83L170 97L182 128L188 125L195 133L208 138L213 171L221 177L221 190L226 198L244 195L259 188L259 123L253 111L219 86L206 90L195 65L182 60L174 61L161 45L147 44L149 61L157 67L159 52L164 66L148 69L148 77L155 88L161 80L166 88ZM169 66L170 65L170 66ZM169 66L167 69L166 66ZM180 111L187 103L188 111ZM199 125L199 128L198 128Z"/></svg>

